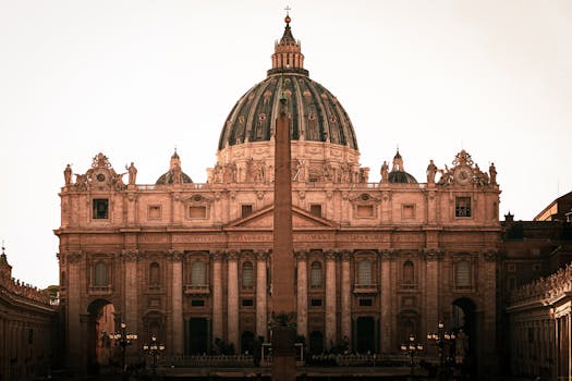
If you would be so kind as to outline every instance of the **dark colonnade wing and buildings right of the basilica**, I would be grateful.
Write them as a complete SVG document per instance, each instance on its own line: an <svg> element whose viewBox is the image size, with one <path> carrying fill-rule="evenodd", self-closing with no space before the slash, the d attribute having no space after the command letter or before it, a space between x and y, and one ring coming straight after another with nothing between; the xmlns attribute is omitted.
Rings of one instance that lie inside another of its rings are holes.
<svg viewBox="0 0 572 381"><path fill-rule="evenodd" d="M572 193L534 221L506 216L499 312L510 373L572 379Z"/></svg>

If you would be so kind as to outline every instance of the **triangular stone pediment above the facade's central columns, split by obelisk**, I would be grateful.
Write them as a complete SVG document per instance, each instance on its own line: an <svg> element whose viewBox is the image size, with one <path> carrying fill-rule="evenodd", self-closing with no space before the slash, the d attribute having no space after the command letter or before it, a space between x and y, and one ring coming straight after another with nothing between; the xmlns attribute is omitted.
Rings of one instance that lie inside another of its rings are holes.
<svg viewBox="0 0 572 381"><path fill-rule="evenodd" d="M228 228L273 228L275 207L266 207L247 217L230 222ZM317 216L299 207L292 207L292 225L296 228L336 228L337 223Z"/></svg>

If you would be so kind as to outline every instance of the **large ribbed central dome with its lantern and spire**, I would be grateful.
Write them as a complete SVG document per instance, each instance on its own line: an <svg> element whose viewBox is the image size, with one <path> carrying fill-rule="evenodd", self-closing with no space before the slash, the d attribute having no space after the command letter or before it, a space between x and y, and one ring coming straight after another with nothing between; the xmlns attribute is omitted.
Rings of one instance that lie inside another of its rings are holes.
<svg viewBox="0 0 572 381"><path fill-rule="evenodd" d="M294 40L290 17L276 42L268 77L244 94L230 112L218 149L248 142L267 142L273 135L282 91L288 97L292 140L325 142L357 150L352 122L338 99L308 77L300 41Z"/></svg>

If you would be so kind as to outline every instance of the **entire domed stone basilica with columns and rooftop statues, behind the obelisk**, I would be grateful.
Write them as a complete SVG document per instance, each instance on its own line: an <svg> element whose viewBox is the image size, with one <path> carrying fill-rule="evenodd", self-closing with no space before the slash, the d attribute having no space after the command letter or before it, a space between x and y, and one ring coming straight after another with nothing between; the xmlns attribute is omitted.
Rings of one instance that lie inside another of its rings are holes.
<svg viewBox="0 0 572 381"><path fill-rule="evenodd" d="M445 169L428 159L418 182L398 151L369 182L350 116L309 78L285 21L266 79L223 123L207 183L183 172L177 151L155 184L137 183L134 163L124 181L104 153L75 179L65 169L54 233L68 364L102 361L101 340L121 321L156 335L168 356L269 341L273 137L285 97L299 341L311 353L395 353L442 322L465 333L463 361L492 371L502 247L495 167L482 171L452 151Z"/></svg>

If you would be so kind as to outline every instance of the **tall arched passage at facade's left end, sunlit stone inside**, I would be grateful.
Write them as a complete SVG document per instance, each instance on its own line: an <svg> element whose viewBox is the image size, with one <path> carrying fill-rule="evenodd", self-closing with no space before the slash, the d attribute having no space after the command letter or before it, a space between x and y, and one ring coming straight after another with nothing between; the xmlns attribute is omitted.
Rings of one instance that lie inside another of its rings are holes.
<svg viewBox="0 0 572 381"><path fill-rule="evenodd" d="M101 367L111 365L113 360L111 335L115 331L115 309L109 300L97 299L89 304L87 311L87 369L99 373Z"/></svg>

